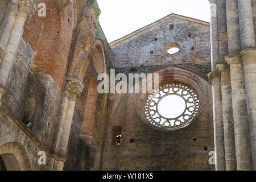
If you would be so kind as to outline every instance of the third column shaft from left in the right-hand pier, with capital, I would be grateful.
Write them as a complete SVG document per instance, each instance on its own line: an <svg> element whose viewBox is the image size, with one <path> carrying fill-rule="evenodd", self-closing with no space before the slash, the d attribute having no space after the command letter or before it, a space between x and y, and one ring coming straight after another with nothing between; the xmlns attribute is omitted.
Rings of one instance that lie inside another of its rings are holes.
<svg viewBox="0 0 256 182"><path fill-rule="evenodd" d="M245 80L243 65L239 57L226 57L230 65L232 85L232 105L234 119L234 134L236 141L237 170L251 170L251 146L247 105L245 96Z"/></svg>

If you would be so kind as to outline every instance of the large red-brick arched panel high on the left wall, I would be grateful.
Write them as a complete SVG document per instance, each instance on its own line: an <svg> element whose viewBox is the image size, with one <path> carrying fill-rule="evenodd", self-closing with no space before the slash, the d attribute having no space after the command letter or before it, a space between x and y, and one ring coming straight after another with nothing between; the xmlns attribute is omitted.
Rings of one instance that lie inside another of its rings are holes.
<svg viewBox="0 0 256 182"><path fill-rule="evenodd" d="M46 17L42 18L42 30L35 47L32 71L50 75L62 88L76 19L73 1L58 2L45 1Z"/></svg>

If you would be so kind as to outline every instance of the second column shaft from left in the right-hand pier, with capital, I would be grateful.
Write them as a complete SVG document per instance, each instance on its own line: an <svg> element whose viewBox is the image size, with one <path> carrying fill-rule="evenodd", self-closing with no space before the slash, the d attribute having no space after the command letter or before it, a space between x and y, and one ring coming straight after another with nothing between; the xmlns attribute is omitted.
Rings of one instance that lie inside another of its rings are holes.
<svg viewBox="0 0 256 182"><path fill-rule="evenodd" d="M222 114L224 123L224 143L226 170L237 170L236 144L234 139L233 108L231 95L230 69L226 64L218 64L221 72Z"/></svg>

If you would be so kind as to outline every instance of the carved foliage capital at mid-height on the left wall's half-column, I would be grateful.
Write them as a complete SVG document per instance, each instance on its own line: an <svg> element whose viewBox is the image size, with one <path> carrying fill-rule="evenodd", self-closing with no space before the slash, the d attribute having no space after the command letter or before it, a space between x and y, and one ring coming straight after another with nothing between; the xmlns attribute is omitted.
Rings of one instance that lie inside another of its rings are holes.
<svg viewBox="0 0 256 182"><path fill-rule="evenodd" d="M84 89L84 84L82 84L81 80L79 78L67 77L65 81L64 92L68 92L69 95L75 94L76 96L80 96Z"/></svg>

